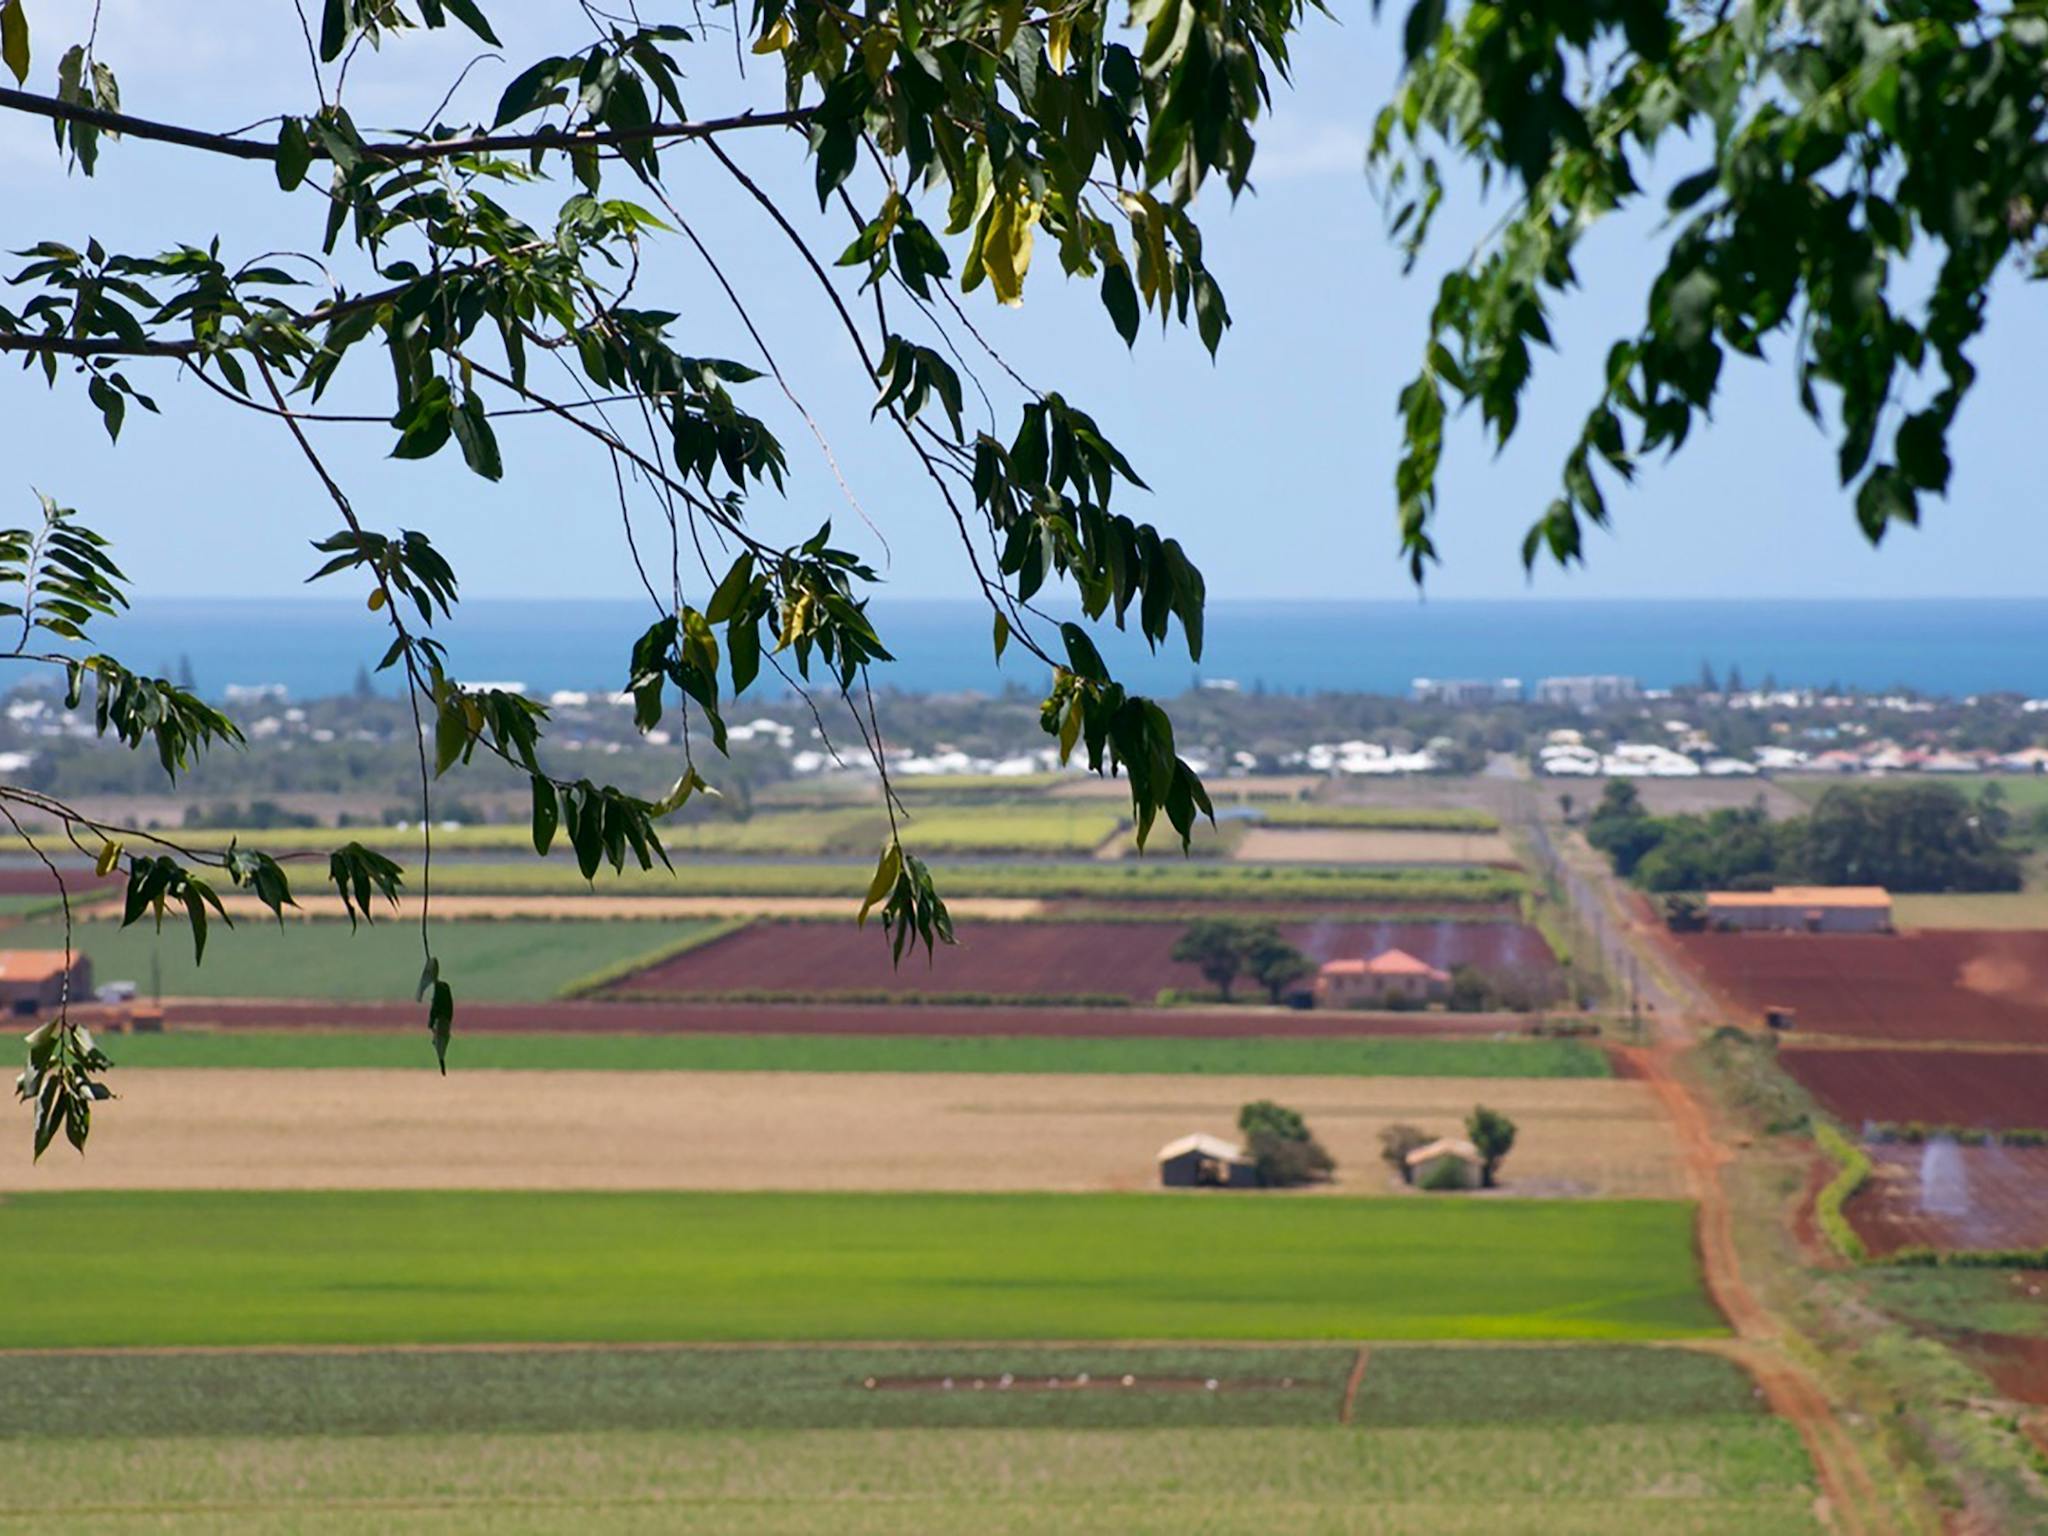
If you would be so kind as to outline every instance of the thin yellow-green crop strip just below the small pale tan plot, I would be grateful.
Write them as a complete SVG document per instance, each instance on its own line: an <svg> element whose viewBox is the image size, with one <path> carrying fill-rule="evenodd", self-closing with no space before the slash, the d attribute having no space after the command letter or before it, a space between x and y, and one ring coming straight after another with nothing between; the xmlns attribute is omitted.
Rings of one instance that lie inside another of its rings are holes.
<svg viewBox="0 0 2048 1536"><path fill-rule="evenodd" d="M915 848L918 844L911 842ZM1268 866L1196 862L1161 854L1118 862L940 864L948 897L1040 897L1094 901L1413 901L1430 905L1513 901L1528 881L1497 868ZM602 895L813 895L860 901L872 864L700 864L612 874L600 870ZM518 864L442 864L434 889L473 893L561 893L592 889L565 858Z"/></svg>

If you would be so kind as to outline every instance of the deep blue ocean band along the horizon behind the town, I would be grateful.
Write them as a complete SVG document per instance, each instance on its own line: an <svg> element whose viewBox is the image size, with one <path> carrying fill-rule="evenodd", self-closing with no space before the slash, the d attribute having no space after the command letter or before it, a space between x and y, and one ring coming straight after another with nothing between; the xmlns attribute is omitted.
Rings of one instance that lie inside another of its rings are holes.
<svg viewBox="0 0 2048 1536"><path fill-rule="evenodd" d="M1012 645L991 659L989 612L971 602L877 600L897 664L877 686L905 692L1038 688L1044 668ZM453 672L532 690L618 688L647 604L469 600L446 623ZM1208 645L1190 664L1176 637L1157 655L1108 631L1104 655L1133 688L1178 694L1233 680L1274 692L1407 694L1415 678L1538 678L1612 672L1663 688L1731 668L1745 684L1929 694L2048 696L2048 600L1919 602L1212 602ZM219 698L229 684L281 684L295 698L344 692L389 633L352 602L160 600L106 623L98 643L139 670L182 666ZM1057 645L1057 635L1049 637ZM768 686L780 690L774 674ZM391 676L377 680L391 688Z"/></svg>

